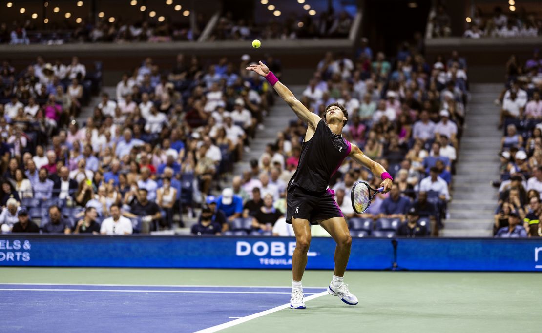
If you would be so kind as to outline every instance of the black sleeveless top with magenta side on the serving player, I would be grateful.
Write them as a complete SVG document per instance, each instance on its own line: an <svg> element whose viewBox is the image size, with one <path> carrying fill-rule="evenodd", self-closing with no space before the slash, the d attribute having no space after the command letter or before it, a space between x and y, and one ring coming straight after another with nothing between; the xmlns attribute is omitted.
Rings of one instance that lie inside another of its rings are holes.
<svg viewBox="0 0 542 333"><path fill-rule="evenodd" d="M311 140L301 143L298 168L288 184L288 190L299 186L312 192L325 192L331 176L350 154L350 142L331 132L320 120Z"/></svg>

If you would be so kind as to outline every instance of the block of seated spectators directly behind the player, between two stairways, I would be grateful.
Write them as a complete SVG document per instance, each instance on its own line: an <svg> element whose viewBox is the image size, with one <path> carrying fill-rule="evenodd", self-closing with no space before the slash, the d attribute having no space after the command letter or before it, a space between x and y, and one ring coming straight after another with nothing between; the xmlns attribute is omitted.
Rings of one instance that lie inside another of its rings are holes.
<svg viewBox="0 0 542 333"><path fill-rule="evenodd" d="M439 57L429 64L410 48L386 58L383 53L372 57L365 46L354 60L327 53L302 96L296 96L320 115L330 103L343 103L349 110L345 138L395 177L390 193L378 194L367 212L357 214L350 197L353 184L364 180L377 188L380 180L350 159L339 167L330 186L353 236L438 234L451 200L468 93L466 70L466 61L455 51L448 60ZM220 233L229 221L227 234L292 236L283 217L286 184L299 162L305 130L302 121L292 120L231 188L208 198L207 220L193 233L205 233L206 226L209 233ZM318 227L313 235L326 236Z"/></svg>

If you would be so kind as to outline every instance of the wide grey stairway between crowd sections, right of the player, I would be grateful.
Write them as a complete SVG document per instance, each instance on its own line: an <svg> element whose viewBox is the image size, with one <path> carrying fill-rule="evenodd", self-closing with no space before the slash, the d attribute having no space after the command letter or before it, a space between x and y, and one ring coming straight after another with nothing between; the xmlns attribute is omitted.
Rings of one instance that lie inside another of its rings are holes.
<svg viewBox="0 0 542 333"><path fill-rule="evenodd" d="M471 84L465 128L457 158L443 237L491 237L498 192L501 130L493 101L502 83Z"/></svg>

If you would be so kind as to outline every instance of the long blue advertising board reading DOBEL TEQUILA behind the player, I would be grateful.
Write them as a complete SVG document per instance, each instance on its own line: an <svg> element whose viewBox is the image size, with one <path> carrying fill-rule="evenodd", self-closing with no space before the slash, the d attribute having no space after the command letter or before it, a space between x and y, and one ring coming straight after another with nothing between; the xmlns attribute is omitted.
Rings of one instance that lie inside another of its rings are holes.
<svg viewBox="0 0 542 333"><path fill-rule="evenodd" d="M542 239L396 238L409 270L542 271ZM0 266L289 269L294 238L173 236L0 236ZM313 238L308 269L332 269L335 243ZM390 239L353 239L348 268L382 270Z"/></svg>

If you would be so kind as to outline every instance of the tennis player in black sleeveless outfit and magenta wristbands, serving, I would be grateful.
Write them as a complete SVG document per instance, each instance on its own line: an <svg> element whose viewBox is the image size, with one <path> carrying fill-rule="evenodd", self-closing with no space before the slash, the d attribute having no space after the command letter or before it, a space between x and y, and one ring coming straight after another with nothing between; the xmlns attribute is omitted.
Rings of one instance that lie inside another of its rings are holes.
<svg viewBox="0 0 542 333"><path fill-rule="evenodd" d="M335 203L334 192L328 184L346 156L380 177L380 187L384 187L384 192L391 190L393 179L382 165L372 161L356 145L343 138L343 127L348 120L348 111L343 105L328 105L322 119L298 101L261 61L260 64L251 64L247 69L265 77L299 119L307 123L305 139L301 143L299 165L288 184L286 197L286 222L292 224L296 238L292 257L290 307L305 309L301 278L311 244L311 224L320 224L337 243L334 255L335 271L327 292L339 297L346 304L356 305L358 299L343 282L352 238L343 213Z"/></svg>

